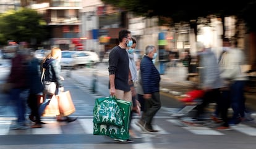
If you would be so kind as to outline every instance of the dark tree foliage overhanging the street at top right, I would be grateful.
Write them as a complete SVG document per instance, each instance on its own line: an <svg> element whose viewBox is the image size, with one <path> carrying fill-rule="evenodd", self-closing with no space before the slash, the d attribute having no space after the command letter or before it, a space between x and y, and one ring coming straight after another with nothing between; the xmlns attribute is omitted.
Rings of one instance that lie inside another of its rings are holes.
<svg viewBox="0 0 256 149"><path fill-rule="evenodd" d="M250 5L250 2L255 0L231 1L231 0L215 0L215 1L159 1L159 0L101 0L105 4L111 4L114 7L120 7L123 10L134 12L134 14L145 17L158 16L163 20L164 17L171 18L169 26L175 23L187 22L190 20L197 20L199 17L206 17L208 15L215 15L222 18L235 15L239 20L244 20L244 10ZM255 8L255 7L254 7ZM255 10L255 9L252 9ZM254 14L247 17L247 23L255 20ZM248 16L248 15L247 15ZM255 22L255 21L254 21ZM166 22L163 22L166 24ZM192 22L190 26L194 28L196 25ZM224 22L223 22L224 25ZM256 28L255 25L248 26Z"/></svg>

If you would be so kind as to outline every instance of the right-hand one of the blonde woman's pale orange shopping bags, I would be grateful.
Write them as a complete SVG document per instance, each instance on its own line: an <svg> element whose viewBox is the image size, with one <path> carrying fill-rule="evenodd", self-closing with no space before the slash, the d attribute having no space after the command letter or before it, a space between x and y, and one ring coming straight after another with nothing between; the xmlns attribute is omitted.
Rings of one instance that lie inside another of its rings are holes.
<svg viewBox="0 0 256 149"><path fill-rule="evenodd" d="M60 92L56 95L59 105L58 116L68 116L75 112L75 105L73 103L70 91Z"/></svg>

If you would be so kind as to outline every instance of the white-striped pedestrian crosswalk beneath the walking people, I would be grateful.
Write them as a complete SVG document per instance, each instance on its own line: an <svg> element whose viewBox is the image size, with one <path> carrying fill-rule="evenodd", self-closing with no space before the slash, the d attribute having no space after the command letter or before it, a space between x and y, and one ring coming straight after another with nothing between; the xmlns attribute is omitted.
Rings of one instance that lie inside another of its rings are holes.
<svg viewBox="0 0 256 149"><path fill-rule="evenodd" d="M10 127L14 123L14 118L0 118L0 135L39 135L39 134L93 134L93 119L79 118L73 123L57 122L54 118L43 118L42 120L46 123L43 124L42 128L38 129L23 129L23 130L12 130ZM140 127L135 124L138 119L132 119L131 127L136 134L142 135ZM184 124L180 119L165 119L159 118L159 124L153 125L154 129L158 130L157 133L151 135L170 135L175 131L180 131L181 134L194 134L194 135L230 135L230 131L218 131L216 127L206 126L190 126ZM161 123L160 123L161 122ZM28 123L29 124L29 123ZM67 130L70 131L67 131ZM245 135L256 136L256 127L248 124L238 124L236 127L232 127L233 132L242 133ZM146 133L147 134L147 133Z"/></svg>

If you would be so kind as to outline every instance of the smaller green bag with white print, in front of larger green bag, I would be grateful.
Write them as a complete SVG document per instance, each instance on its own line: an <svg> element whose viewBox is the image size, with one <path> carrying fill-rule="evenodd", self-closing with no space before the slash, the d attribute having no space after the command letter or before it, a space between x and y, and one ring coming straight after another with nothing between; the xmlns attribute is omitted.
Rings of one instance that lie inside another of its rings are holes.
<svg viewBox="0 0 256 149"><path fill-rule="evenodd" d="M104 100L94 108L95 118L93 123L113 124L123 126L123 110L119 108L114 99Z"/></svg>

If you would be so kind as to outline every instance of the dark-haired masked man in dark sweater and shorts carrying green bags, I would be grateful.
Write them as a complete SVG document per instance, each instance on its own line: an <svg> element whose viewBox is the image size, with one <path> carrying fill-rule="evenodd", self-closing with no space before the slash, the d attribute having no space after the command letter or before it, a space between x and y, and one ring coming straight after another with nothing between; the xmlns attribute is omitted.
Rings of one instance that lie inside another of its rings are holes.
<svg viewBox="0 0 256 149"><path fill-rule="evenodd" d="M129 81L129 57L127 47L132 46L132 37L129 30L121 30L118 34L119 45L113 47L109 53L109 94L117 99L132 102ZM132 142L132 140L114 139L120 142Z"/></svg>

